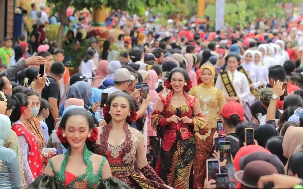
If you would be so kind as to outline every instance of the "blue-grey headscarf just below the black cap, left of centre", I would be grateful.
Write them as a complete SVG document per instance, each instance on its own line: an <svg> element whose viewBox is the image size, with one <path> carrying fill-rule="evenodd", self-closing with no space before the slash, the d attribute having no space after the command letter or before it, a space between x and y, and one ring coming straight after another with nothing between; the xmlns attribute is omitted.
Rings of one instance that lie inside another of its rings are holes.
<svg viewBox="0 0 303 189"><path fill-rule="evenodd" d="M85 81L78 81L69 87L66 98L80 98L84 100L86 106L90 106L89 98L92 95L91 86Z"/></svg>

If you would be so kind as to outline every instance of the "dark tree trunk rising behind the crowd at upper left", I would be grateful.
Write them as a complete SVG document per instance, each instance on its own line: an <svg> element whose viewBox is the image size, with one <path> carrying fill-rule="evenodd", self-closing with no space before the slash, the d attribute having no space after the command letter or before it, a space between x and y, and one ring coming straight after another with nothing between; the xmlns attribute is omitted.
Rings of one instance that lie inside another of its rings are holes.
<svg viewBox="0 0 303 189"><path fill-rule="evenodd" d="M57 37L57 48L61 49L62 41L64 37L64 28L68 24L68 18L66 16L66 10L69 7L71 0L62 0L62 4L55 4L56 11L60 20L60 28Z"/></svg>

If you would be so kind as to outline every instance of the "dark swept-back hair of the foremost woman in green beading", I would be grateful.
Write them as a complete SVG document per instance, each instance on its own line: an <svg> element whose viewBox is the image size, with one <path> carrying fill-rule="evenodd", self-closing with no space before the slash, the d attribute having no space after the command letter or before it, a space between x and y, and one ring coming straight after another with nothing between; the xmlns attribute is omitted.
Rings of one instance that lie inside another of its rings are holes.
<svg viewBox="0 0 303 189"><path fill-rule="evenodd" d="M94 129L96 127L95 123L94 123L94 120L91 116L91 114L86 111L85 109L82 109L82 108L74 108L74 109L71 109L69 111L67 111L64 116L62 117L61 121L60 121L60 128L65 131L65 127L66 127L66 122L67 120L71 117L71 116L77 116L77 115L80 115L80 116L83 116L85 117L85 119L87 120L87 123L88 123L88 127L89 129ZM95 141L91 142L91 141L86 141L86 145L87 145L87 148L91 151L93 151L93 147L95 145ZM69 143L62 143L62 145L65 147L65 148L68 148L69 146Z"/></svg>

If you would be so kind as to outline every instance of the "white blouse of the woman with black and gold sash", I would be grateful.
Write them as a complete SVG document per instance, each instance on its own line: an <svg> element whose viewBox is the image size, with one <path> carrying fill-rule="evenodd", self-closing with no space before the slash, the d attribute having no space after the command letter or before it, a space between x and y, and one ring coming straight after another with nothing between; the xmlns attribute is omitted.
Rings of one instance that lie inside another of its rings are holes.
<svg viewBox="0 0 303 189"><path fill-rule="evenodd" d="M229 70L227 71L227 74L231 81L232 77L231 77L231 72ZM239 101L240 102L244 101L244 99L250 94L249 84L245 74L235 70L232 84L234 86L234 89L238 97L240 98ZM221 75L218 76L215 87L217 89L222 89L224 96L229 97L228 92L222 82Z"/></svg>

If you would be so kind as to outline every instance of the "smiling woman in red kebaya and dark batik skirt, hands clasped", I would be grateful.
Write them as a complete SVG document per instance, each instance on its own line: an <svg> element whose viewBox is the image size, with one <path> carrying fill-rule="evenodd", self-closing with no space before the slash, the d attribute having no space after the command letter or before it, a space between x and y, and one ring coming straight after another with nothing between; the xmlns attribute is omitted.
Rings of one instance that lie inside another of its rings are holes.
<svg viewBox="0 0 303 189"><path fill-rule="evenodd" d="M189 188L189 177L196 155L196 135L207 131L197 97L188 95L192 82L183 68L174 68L165 82L171 92L160 97L153 116L153 128L162 138L156 172L167 185Z"/></svg>

